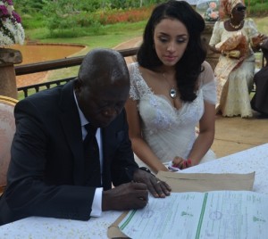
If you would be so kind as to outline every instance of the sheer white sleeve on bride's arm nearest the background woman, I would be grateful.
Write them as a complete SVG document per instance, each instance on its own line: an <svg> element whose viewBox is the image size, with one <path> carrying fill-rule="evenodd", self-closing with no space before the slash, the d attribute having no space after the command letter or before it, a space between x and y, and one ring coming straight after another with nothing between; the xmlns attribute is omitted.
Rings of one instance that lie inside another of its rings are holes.
<svg viewBox="0 0 268 239"><path fill-rule="evenodd" d="M203 66L205 70L200 74L200 87L203 90L204 100L208 103L215 104L217 95L214 71L208 62L204 62Z"/></svg>

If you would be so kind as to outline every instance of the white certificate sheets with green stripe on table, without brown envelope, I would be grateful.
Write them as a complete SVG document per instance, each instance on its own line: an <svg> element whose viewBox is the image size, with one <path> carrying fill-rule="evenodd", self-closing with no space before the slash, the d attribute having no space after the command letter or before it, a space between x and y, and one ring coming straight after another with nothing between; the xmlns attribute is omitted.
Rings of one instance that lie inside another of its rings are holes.
<svg viewBox="0 0 268 239"><path fill-rule="evenodd" d="M150 197L119 224L130 238L265 238L268 196L250 191L172 193Z"/></svg>

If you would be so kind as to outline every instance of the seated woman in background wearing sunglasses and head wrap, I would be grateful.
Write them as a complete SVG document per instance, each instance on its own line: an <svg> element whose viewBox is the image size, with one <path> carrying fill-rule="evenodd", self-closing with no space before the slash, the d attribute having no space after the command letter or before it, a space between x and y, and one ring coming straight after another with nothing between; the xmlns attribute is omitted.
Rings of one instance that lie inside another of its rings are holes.
<svg viewBox="0 0 268 239"><path fill-rule="evenodd" d="M258 49L264 35L260 35L254 21L245 19L247 7L241 0L222 0L209 45L221 53L214 70L217 78L217 111L222 116L252 117L249 92L253 87L255 72L254 50Z"/></svg>

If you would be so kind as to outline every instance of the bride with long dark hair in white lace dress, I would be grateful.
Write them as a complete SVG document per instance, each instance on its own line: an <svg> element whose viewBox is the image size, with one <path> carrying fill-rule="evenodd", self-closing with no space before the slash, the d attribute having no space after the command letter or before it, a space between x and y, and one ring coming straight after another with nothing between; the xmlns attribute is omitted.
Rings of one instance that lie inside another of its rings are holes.
<svg viewBox="0 0 268 239"><path fill-rule="evenodd" d="M129 65L126 103L139 166L157 172L168 170L172 161L185 169L215 159L209 149L214 141L216 87L214 72L204 62L204 27L202 17L184 1L158 5L147 23L138 62Z"/></svg>

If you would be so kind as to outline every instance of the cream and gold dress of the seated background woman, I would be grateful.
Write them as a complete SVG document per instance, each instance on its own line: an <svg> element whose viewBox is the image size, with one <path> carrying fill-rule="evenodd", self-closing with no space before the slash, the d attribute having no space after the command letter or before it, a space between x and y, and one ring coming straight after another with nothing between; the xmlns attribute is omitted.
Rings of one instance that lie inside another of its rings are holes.
<svg viewBox="0 0 268 239"><path fill-rule="evenodd" d="M217 80L217 110L222 111L223 116L240 115L247 118L252 117L249 92L253 87L255 72L255 55L251 48L252 37L258 35L255 22L247 19L242 29L228 31L224 28L223 21L217 21L209 45L216 46L238 34L247 38L247 57L241 60L220 56L214 70Z"/></svg>

